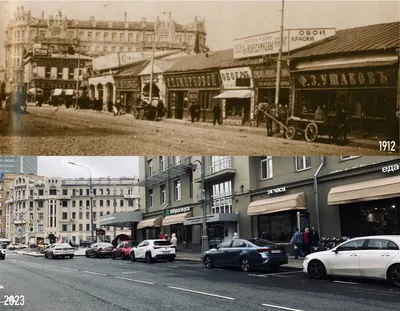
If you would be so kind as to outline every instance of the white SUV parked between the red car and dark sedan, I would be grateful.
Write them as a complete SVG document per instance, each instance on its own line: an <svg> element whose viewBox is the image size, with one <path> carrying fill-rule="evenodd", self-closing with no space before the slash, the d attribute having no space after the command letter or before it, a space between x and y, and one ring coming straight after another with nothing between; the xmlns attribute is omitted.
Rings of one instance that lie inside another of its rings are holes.
<svg viewBox="0 0 400 311"><path fill-rule="evenodd" d="M157 259L174 261L175 256L175 248L166 240L145 240L138 246L132 247L129 253L131 261L145 259L148 263Z"/></svg>

